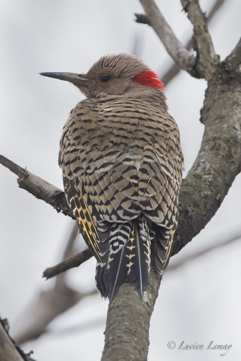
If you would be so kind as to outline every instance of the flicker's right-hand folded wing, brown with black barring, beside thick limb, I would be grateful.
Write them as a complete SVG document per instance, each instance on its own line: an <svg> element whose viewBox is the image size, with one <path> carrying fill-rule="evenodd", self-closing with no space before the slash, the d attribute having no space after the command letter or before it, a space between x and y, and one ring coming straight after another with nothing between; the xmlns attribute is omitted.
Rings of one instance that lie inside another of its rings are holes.
<svg viewBox="0 0 241 361"><path fill-rule="evenodd" d="M169 140L165 139L160 144L147 145L138 171L138 202L143 214L154 222L152 230L157 245L156 264L161 273L168 264L178 221L183 162L178 134L173 134Z"/></svg>

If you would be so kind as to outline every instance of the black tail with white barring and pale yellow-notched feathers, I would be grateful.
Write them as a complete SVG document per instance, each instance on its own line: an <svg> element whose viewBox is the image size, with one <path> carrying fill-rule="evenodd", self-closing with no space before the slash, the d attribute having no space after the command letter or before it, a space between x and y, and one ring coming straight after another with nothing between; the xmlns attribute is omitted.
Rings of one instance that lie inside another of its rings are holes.
<svg viewBox="0 0 241 361"><path fill-rule="evenodd" d="M146 217L114 223L109 235L109 255L96 267L96 287L102 297L113 300L121 284L133 283L143 297L150 273L150 234Z"/></svg>

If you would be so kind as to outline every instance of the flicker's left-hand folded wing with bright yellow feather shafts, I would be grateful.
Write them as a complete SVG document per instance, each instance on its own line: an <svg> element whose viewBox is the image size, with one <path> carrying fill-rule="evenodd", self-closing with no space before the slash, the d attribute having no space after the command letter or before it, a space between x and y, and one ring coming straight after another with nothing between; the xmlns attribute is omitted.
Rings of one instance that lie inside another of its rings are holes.
<svg viewBox="0 0 241 361"><path fill-rule="evenodd" d="M125 144L112 145L112 129L103 125L95 104L82 101L70 113L59 165L81 233L98 262L105 263L111 224L136 218L141 208L135 161L124 152Z"/></svg>

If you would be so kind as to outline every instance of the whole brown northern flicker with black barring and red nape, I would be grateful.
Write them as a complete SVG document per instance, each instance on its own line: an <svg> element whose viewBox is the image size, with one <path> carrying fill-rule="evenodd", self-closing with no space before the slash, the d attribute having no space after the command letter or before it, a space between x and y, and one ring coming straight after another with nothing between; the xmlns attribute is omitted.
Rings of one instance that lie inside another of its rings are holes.
<svg viewBox="0 0 241 361"><path fill-rule="evenodd" d="M183 156L163 83L133 55L107 55L86 74L41 73L73 83L87 99L60 141L64 191L97 260L96 287L111 302L122 283L142 297L150 243L166 268L178 222Z"/></svg>

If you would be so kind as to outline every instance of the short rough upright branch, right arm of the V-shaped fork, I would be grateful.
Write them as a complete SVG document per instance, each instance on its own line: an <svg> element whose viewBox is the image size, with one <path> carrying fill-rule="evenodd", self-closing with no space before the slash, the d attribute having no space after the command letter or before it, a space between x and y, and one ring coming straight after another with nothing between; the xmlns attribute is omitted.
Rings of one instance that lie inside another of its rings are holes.
<svg viewBox="0 0 241 361"><path fill-rule="evenodd" d="M198 59L196 69L200 78L208 80L214 74L219 56L214 51L205 14L202 13L198 0L181 0L181 4L193 25L194 50L197 51Z"/></svg>

